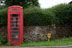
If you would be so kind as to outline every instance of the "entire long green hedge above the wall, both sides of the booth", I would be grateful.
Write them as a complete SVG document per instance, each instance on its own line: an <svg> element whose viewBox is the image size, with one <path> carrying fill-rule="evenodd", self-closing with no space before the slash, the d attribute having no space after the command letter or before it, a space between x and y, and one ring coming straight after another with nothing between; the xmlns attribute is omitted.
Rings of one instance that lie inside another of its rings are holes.
<svg viewBox="0 0 72 48"><path fill-rule="evenodd" d="M52 8L30 7L24 9L24 25L71 24L72 5L59 4ZM7 24L7 8L0 10L0 24Z"/></svg>

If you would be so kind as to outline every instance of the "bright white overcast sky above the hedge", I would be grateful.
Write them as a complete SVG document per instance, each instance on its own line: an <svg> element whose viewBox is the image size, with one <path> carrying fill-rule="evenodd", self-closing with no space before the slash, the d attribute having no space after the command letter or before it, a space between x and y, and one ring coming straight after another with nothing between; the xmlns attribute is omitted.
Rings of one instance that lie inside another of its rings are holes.
<svg viewBox="0 0 72 48"><path fill-rule="evenodd" d="M72 0L39 0L39 4L41 8L50 8L57 4L61 3L69 3Z"/></svg>

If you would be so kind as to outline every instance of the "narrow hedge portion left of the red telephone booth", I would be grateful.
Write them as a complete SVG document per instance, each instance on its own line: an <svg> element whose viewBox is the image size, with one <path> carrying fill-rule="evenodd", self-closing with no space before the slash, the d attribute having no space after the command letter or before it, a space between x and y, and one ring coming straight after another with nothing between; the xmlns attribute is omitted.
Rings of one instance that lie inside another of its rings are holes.
<svg viewBox="0 0 72 48"><path fill-rule="evenodd" d="M7 8L0 10L0 24L7 24Z"/></svg>

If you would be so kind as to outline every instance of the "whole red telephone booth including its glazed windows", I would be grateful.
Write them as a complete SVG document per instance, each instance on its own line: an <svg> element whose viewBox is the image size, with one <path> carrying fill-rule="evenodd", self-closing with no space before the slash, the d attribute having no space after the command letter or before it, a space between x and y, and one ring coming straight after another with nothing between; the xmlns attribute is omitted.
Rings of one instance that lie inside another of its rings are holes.
<svg viewBox="0 0 72 48"><path fill-rule="evenodd" d="M13 45L23 43L23 8L21 6L8 8L8 43Z"/></svg>

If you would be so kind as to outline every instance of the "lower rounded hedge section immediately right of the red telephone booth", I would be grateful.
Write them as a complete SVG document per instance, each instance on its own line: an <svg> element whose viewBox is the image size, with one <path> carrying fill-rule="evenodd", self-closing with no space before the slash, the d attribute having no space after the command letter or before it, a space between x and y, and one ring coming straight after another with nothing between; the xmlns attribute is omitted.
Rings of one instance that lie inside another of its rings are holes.
<svg viewBox="0 0 72 48"><path fill-rule="evenodd" d="M55 14L40 8L27 8L24 10L24 25L49 25L54 22Z"/></svg>

